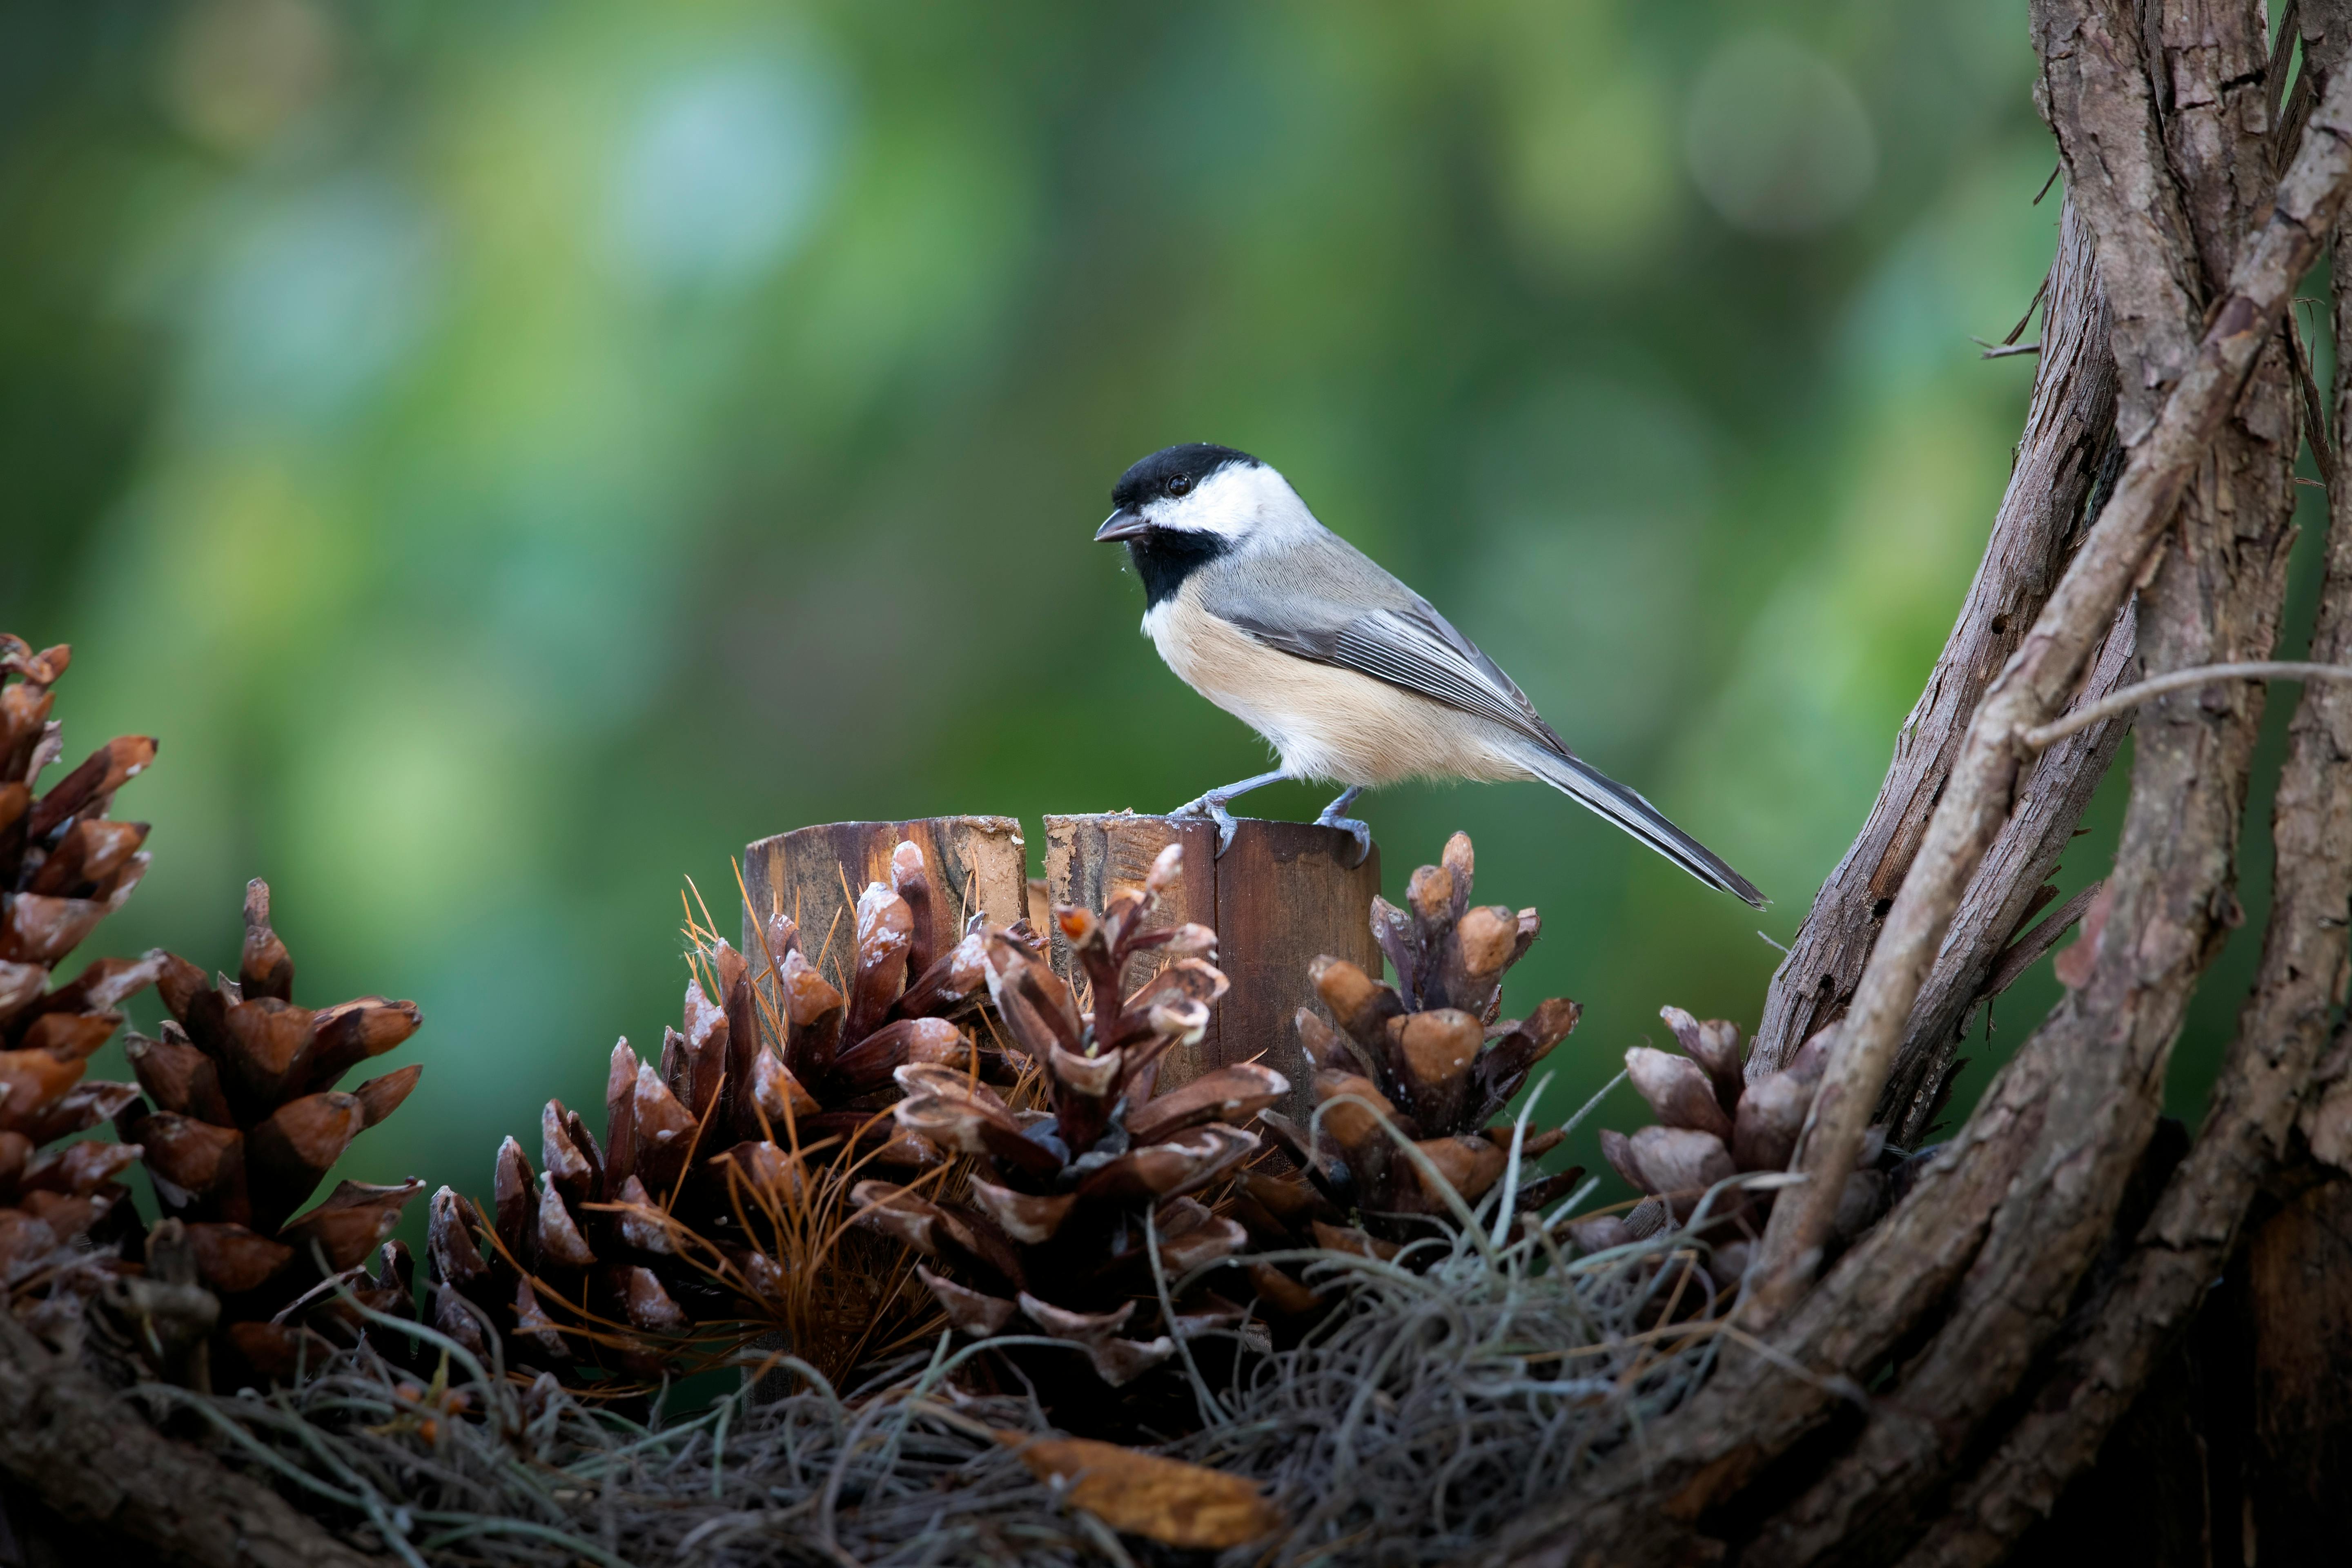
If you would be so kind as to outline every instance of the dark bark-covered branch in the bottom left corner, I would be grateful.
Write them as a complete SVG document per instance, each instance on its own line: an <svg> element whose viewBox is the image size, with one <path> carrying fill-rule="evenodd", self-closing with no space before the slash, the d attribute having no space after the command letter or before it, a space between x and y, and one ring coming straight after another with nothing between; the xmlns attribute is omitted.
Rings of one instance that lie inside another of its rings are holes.
<svg viewBox="0 0 2352 1568"><path fill-rule="evenodd" d="M0 1467L68 1523L188 1568L381 1568L202 1448L176 1443L0 1312Z"/></svg>

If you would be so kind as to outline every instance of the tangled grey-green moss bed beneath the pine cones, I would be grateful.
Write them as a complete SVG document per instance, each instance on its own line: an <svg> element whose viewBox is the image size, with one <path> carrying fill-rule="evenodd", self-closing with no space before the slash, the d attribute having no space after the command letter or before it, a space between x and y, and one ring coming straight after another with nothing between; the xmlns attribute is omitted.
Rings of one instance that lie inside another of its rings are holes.
<svg viewBox="0 0 2352 1568"><path fill-rule="evenodd" d="M1731 1197L1726 1182L1708 1201ZM1395 1260L1296 1258L1341 1307L1298 1347L1237 1354L1221 1380L1202 1371L1209 1356L1185 1368L1200 1429L1155 1453L1258 1483L1258 1523L1282 1521L1216 1561L1449 1559L1637 1443L1708 1375L1729 1302L1691 1241L1705 1208L1693 1227L1590 1258L1569 1258L1534 1215L1494 1234L1494 1201L1475 1220ZM414 1568L1141 1563L1169 1552L1152 1535L1197 1547L1209 1537L1181 1528L1230 1540L1249 1516L1230 1483L1197 1500L1225 1523L1120 1519L1148 1530L1122 1535L1080 1507L1082 1467L1040 1460L1056 1434L1037 1399L978 1392L1018 1382L993 1349L1004 1340L943 1338L868 1368L856 1389L771 1356L746 1363L736 1392L668 1415L677 1389L621 1410L550 1378L510 1380L430 1328L383 1326L445 1352L442 1373L421 1385L358 1352L275 1394L143 1399L353 1544ZM760 1373L779 1368L797 1387L762 1401ZM1176 1512L1192 1502L1181 1472L1162 1483Z"/></svg>

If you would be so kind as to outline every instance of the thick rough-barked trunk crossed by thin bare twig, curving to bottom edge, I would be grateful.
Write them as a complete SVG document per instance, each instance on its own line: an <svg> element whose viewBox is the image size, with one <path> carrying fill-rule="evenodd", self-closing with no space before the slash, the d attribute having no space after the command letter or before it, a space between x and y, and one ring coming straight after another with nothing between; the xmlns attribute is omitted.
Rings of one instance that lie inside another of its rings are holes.
<svg viewBox="0 0 2352 1568"><path fill-rule="evenodd" d="M2150 66L2161 68L2178 110L2164 132L2190 228L2201 256L2225 256L2246 226L2241 172L2270 169L2260 96L2267 19L2256 5L2199 7L2187 19L2164 12L2159 45ZM2058 129L2065 146L2074 127L2060 118ZM2079 143L2070 165L2077 153ZM2093 202L2086 209L2100 212ZM2206 226L2223 226L2218 247ZM2201 273L2197 282L2206 282ZM2180 343L2190 329L2178 329ZM2277 644L2298 393L2277 334L2265 336L2270 348L2258 353L2234 416L2213 435L2161 567L2140 595L2150 670L2267 658ZM2154 320L2147 343L2171 355ZM1900 1387L1872 1401L1853 1448L1764 1528L1748 1561L1886 1561L2065 1321L2154 1131L2164 1067L2197 980L2239 919L2237 832L2263 696L2258 682L2230 682L2140 712L2098 959L2091 980L2042 1025L2065 1070L2034 1150L1992 1215L1950 1324L1903 1368Z"/></svg>

